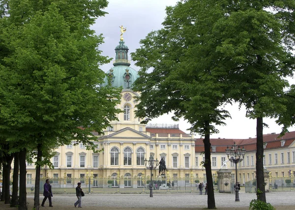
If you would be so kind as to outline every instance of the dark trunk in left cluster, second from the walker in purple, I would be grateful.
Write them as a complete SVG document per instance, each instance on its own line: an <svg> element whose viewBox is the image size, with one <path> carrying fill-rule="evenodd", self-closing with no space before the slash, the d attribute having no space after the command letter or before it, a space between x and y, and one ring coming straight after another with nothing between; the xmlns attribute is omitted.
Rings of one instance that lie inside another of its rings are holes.
<svg viewBox="0 0 295 210"><path fill-rule="evenodd" d="M26 153L27 150L24 148L19 153L20 158L20 198L19 198L19 210L28 210L27 208L27 190L26 190Z"/></svg>

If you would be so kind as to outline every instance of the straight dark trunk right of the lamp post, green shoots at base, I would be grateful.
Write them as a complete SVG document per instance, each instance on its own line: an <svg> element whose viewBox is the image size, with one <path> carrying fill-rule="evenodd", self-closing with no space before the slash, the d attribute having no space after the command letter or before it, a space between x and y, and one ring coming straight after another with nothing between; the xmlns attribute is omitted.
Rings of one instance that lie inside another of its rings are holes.
<svg viewBox="0 0 295 210"><path fill-rule="evenodd" d="M266 202L266 188L264 179L263 168L263 155L264 155L264 143L263 143L263 118L258 117L256 119L256 179L257 179L257 199Z"/></svg>

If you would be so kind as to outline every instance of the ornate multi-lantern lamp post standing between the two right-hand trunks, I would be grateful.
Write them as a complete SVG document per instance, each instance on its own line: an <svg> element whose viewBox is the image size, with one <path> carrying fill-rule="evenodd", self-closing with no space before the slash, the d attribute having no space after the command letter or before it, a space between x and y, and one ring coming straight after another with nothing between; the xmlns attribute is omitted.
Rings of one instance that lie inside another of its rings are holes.
<svg viewBox="0 0 295 210"><path fill-rule="evenodd" d="M234 162L237 164L238 162L241 162L244 159L246 150L241 149L239 146L236 145L236 142L234 142L234 145L232 146L232 149L229 149L229 146L225 150L226 155L228 156L229 160L231 162ZM236 201L239 201L238 196L238 182L237 182L237 167L236 167Z"/></svg>

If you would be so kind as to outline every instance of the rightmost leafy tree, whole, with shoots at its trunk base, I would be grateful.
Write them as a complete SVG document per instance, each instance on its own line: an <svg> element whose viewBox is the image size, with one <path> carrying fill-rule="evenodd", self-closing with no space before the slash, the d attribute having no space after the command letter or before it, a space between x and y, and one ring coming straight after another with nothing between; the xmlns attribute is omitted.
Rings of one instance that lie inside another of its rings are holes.
<svg viewBox="0 0 295 210"><path fill-rule="evenodd" d="M228 68L228 97L245 105L256 119L257 198L266 202L263 168L265 117L286 112L285 77L293 75L294 1L233 1L214 26L216 51Z"/></svg>

